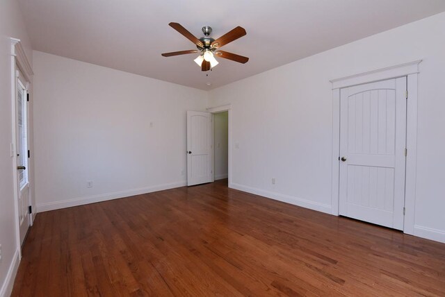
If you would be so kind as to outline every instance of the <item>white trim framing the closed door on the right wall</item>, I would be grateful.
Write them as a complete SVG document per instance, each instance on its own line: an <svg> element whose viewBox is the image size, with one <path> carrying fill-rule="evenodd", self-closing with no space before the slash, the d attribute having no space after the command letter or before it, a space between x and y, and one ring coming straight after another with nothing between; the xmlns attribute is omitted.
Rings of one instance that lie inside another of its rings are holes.
<svg viewBox="0 0 445 297"><path fill-rule="evenodd" d="M336 216L339 215L340 89L342 87L351 87L362 83L372 83L378 80L407 76L407 158L403 232L414 235L417 148L417 78L420 62L422 62L422 60L330 80L332 83L332 214Z"/></svg>

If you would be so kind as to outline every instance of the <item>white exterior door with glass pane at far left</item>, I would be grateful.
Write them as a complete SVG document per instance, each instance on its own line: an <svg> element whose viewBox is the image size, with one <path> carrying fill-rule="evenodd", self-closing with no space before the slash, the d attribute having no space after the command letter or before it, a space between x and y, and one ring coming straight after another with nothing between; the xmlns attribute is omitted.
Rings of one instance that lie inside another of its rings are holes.
<svg viewBox="0 0 445 297"><path fill-rule="evenodd" d="M29 166L28 166L28 110L27 91L22 76L17 78L16 90L16 153L17 153L17 188L19 206L20 244L28 232L29 217Z"/></svg>

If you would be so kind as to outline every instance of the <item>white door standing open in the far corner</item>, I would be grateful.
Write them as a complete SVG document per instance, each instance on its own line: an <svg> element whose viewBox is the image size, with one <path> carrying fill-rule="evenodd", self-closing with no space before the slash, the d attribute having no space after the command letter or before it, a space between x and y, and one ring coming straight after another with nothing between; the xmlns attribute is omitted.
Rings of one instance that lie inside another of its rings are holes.
<svg viewBox="0 0 445 297"><path fill-rule="evenodd" d="M210 183L211 114L187 112L187 185Z"/></svg>

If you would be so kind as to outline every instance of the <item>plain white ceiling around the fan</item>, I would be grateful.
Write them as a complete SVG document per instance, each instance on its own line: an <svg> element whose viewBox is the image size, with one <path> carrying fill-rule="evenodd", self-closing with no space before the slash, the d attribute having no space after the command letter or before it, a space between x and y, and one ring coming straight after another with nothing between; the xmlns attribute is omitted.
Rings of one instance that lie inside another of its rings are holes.
<svg viewBox="0 0 445 297"><path fill-rule="evenodd" d="M19 1L35 50L203 90L445 10L444 0ZM250 60L202 72L196 54L164 58L195 49L170 22L198 38L209 25L215 39L242 26L247 35L222 49Z"/></svg>

